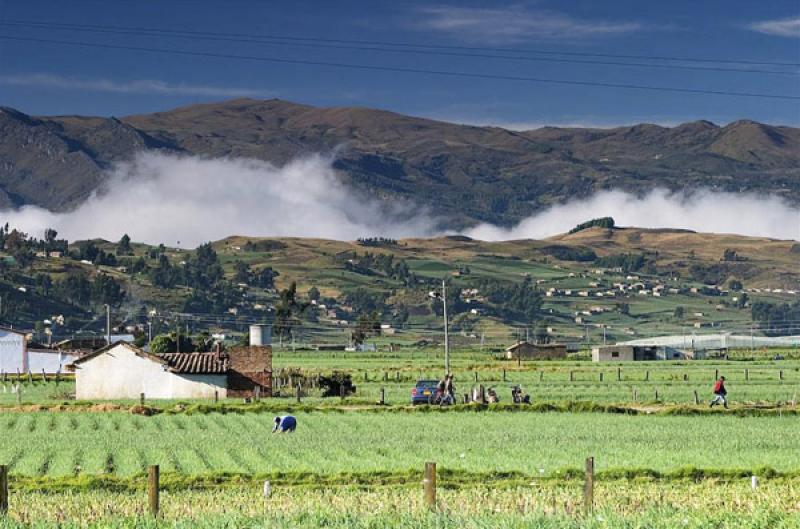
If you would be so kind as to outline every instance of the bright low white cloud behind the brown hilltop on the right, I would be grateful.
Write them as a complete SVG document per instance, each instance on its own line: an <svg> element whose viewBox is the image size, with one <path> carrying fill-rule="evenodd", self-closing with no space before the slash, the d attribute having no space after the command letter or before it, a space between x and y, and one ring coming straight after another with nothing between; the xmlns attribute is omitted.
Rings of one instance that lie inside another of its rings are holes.
<svg viewBox="0 0 800 529"><path fill-rule="evenodd" d="M644 197L606 191L587 200L551 207L510 229L481 224L465 233L483 240L541 239L565 233L596 217L613 217L620 226L800 240L800 210L776 197L712 191L688 196L664 189Z"/></svg>

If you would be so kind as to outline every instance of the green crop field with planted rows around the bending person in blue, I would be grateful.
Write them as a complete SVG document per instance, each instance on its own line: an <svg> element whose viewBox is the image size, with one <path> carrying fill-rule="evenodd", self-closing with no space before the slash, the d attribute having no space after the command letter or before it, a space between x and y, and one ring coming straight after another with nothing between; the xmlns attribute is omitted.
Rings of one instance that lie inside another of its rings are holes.
<svg viewBox="0 0 800 529"><path fill-rule="evenodd" d="M403 476L436 461L460 474L558 476L593 455L599 472L686 467L800 470L795 417L575 413L297 413L294 435L269 414L0 415L0 461L19 476L133 476L147 465L185 475ZM288 479L288 478L287 478ZM337 478L338 479L338 478ZM347 478L342 478L347 479Z"/></svg>

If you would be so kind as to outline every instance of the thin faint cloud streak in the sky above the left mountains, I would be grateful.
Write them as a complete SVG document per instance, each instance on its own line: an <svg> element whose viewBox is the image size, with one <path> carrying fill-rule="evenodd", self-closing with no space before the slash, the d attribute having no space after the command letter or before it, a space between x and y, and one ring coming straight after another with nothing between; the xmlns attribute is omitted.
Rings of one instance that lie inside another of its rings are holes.
<svg viewBox="0 0 800 529"><path fill-rule="evenodd" d="M87 90L115 94L188 95L207 97L267 97L266 90L226 86L169 83L158 79L134 79L115 81L111 79L80 79L50 73L28 73L0 75L0 84L8 86L31 86L59 90Z"/></svg>

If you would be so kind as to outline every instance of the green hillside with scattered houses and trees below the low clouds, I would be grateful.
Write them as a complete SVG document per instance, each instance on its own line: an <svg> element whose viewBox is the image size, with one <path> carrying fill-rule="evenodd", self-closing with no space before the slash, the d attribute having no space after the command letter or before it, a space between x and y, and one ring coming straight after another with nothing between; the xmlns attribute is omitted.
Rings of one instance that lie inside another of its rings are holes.
<svg viewBox="0 0 800 529"><path fill-rule="evenodd" d="M56 337L103 332L108 303L115 326L128 331L149 322L154 333L238 332L278 317L283 337L302 344L347 343L357 325L374 336L378 324L397 329L385 341L438 340L441 303L429 292L443 279L456 343L749 333L773 317L773 334L796 334L793 241L602 227L506 242L234 236L198 250L4 238L0 320L41 331L37 322L63 315ZM53 257L42 251L48 244L66 252ZM281 316L280 292L293 283L293 308ZM770 305L754 322L759 302ZM790 312L770 312L781 304Z"/></svg>

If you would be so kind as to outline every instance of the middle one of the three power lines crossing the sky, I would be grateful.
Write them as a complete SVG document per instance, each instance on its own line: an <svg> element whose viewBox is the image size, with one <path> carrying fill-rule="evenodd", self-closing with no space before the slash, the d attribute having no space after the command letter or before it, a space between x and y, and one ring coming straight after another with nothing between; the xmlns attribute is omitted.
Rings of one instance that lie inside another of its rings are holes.
<svg viewBox="0 0 800 529"><path fill-rule="evenodd" d="M632 68L658 68L658 69L673 69L673 70L692 70L692 71L710 71L710 72L735 72L745 74L767 74L767 75L800 75L798 71L776 71L776 70L763 70L763 69L743 69L743 68L725 68L715 66L685 66L678 64L647 64L641 62L619 62L619 61L596 61L586 59L568 59L568 58L554 58L554 57L525 57L519 55L493 55L481 53L466 53L457 51L433 51L427 49L416 48L387 48L376 46L365 46L355 44L330 44L324 42L300 42L297 39L288 37L233 37L224 36L225 34L205 33L205 32L184 32L174 30L150 29L150 28L129 28L120 26L94 26L89 24L60 24L60 23L43 23L43 22L0 22L0 26L10 27L29 27L38 29L56 29L67 31L80 31L87 33L103 33L103 34L118 34L118 35L136 35L136 36L157 36L157 37L170 37L170 38L183 38L195 40L212 40L212 41L225 41L225 42L240 42L250 44L267 44L267 45L280 45L280 46L293 46L293 47L306 47L306 48L323 48L323 49L346 49L358 51L377 51L382 53L403 53L414 55L428 55L428 56L445 56L445 57L469 57L478 59L502 59L509 61L521 62L549 62L549 63L572 63L584 65L599 65L599 66L623 66Z"/></svg>

